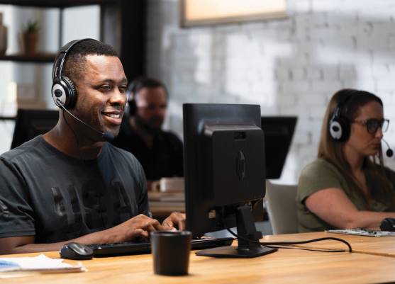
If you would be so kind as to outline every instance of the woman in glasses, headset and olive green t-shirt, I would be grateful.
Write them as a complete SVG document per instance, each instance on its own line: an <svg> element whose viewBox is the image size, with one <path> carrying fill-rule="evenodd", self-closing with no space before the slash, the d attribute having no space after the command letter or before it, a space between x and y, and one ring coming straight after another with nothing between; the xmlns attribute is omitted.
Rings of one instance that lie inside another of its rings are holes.
<svg viewBox="0 0 395 284"><path fill-rule="evenodd" d="M388 125L378 96L352 89L333 95L318 159L299 178L299 232L379 227L395 217L395 172L384 167L381 147Z"/></svg>

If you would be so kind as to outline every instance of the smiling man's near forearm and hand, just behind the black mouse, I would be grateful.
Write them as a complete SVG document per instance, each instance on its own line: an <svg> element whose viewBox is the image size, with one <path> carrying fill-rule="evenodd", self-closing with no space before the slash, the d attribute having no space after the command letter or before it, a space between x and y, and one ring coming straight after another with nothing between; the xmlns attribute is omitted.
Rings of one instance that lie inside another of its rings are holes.
<svg viewBox="0 0 395 284"><path fill-rule="evenodd" d="M38 251L57 251L68 242L80 244L106 244L113 242L126 242L137 237L148 238L149 233L166 229L160 222L143 214L130 218L120 225L100 232L86 234L76 239L52 244L35 244L34 236L0 238L0 254L23 254Z"/></svg>

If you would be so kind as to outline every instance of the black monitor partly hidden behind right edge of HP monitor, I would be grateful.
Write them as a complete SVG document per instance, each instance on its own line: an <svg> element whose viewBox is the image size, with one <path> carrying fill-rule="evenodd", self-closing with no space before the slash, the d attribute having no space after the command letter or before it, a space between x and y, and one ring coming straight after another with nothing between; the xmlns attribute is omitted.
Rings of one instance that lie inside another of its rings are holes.
<svg viewBox="0 0 395 284"><path fill-rule="evenodd" d="M294 135L296 116L263 116L266 178L280 178Z"/></svg>

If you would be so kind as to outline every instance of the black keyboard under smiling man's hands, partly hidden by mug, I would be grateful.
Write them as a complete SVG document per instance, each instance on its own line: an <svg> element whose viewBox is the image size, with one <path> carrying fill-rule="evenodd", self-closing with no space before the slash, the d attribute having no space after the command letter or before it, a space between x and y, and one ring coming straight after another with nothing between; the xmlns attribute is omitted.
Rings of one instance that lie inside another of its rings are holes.
<svg viewBox="0 0 395 284"><path fill-rule="evenodd" d="M217 246L230 246L233 238L201 238L191 239L191 249L209 249ZM150 242L121 242L112 244L88 244L94 256L119 256L130 254L150 254Z"/></svg>

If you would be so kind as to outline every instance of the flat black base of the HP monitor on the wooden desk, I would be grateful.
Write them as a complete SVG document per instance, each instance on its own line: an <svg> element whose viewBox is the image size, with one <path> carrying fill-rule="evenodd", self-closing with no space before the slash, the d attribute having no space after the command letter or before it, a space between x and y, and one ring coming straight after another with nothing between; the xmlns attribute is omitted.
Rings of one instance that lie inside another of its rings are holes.
<svg viewBox="0 0 395 284"><path fill-rule="evenodd" d="M203 249L201 251L197 251L196 256L251 259L257 256L271 254L274 251L277 251L277 249L267 248L265 246L259 246L253 249L238 249L238 246L220 246L212 249Z"/></svg>

